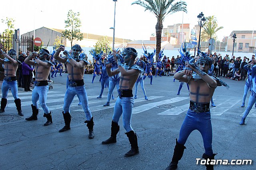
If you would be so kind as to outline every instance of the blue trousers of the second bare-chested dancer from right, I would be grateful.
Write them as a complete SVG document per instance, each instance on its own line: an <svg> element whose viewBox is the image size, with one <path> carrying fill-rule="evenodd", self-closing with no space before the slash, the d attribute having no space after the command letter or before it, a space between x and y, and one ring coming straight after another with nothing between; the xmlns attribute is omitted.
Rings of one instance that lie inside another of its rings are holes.
<svg viewBox="0 0 256 170"><path fill-rule="evenodd" d="M110 93L111 94L111 93ZM123 126L126 132L130 132L132 129L132 107L134 104L133 97L118 97L114 107L114 115L112 120L116 123L119 122L121 115L123 114Z"/></svg>

